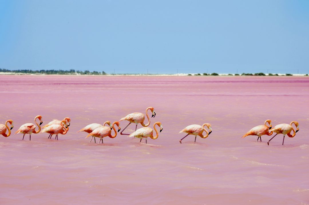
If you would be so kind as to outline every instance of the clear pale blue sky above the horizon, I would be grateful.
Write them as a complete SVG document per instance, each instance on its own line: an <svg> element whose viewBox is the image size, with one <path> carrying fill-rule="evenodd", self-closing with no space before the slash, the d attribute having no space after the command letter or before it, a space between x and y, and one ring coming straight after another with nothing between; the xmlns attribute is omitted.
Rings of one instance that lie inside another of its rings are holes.
<svg viewBox="0 0 309 205"><path fill-rule="evenodd" d="M0 0L0 67L309 73L309 1Z"/></svg>

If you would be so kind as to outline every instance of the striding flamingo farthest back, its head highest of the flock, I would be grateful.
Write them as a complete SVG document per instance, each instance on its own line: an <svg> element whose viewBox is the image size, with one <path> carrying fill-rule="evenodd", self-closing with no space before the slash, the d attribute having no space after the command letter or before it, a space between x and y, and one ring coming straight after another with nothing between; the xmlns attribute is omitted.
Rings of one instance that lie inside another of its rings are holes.
<svg viewBox="0 0 309 205"><path fill-rule="evenodd" d="M149 116L148 116L148 113L147 113L148 110L151 110L151 112L152 112L151 117L155 117L155 115L156 115L156 114L155 114L155 108L153 108L153 107L148 107L148 108L146 109L146 116L147 116L147 119L148 119L148 123L147 123L146 125L144 124L145 115L142 114L142 113L140 113L140 112L131 113L131 114L125 116L124 118L121 118L119 121L122 121L122 120L127 120L127 121L129 121L129 124L127 125L127 127L128 127L131 123L135 123L135 124L136 124L136 126L135 126L135 131L136 131L136 128L137 128L138 123L141 123L141 125L142 125L143 127L148 127L148 126L150 125L150 119L149 119ZM127 128L127 127L125 127L125 128ZM122 134L123 131L125 131L125 129L123 129L123 130L121 131L120 135L129 135L129 134Z"/></svg>

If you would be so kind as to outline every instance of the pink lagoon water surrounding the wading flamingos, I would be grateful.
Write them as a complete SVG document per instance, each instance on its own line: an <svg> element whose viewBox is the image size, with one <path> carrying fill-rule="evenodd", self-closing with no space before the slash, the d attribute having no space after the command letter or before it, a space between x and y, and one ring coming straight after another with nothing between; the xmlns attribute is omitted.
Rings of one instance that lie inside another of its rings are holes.
<svg viewBox="0 0 309 205"><path fill-rule="evenodd" d="M309 204L308 77L2 75L0 88L0 123L12 119L13 132L36 115L71 118L59 141L0 137L1 204ZM149 106L163 131L148 144L77 133ZM282 135L269 146L269 136L241 139L266 119L298 121L299 132L284 146ZM181 129L203 123L207 139L179 143Z"/></svg>

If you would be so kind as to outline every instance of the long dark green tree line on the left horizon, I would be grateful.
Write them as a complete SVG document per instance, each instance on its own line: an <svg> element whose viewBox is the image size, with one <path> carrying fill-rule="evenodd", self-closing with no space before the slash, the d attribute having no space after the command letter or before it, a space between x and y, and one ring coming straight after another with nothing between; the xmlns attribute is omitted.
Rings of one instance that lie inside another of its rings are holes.
<svg viewBox="0 0 309 205"><path fill-rule="evenodd" d="M105 75L106 73L104 71L98 72L98 71L92 71L89 70L8 70L0 68L0 72L3 73L26 73L26 74L59 74L59 75L66 75L66 74L80 74L80 75Z"/></svg>

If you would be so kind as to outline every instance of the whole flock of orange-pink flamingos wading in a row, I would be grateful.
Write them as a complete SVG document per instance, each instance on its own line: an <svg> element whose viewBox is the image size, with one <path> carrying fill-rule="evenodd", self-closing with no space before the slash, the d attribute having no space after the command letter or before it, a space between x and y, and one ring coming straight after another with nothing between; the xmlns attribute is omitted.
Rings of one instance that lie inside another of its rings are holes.
<svg viewBox="0 0 309 205"><path fill-rule="evenodd" d="M79 130L78 132L82 132L82 131L87 132L88 135L86 136L86 138L92 136L90 143L93 138L94 138L95 143L96 143L95 138L99 138L100 139L99 143L101 142L103 143L104 137L115 138L117 136L117 133L121 130L120 121L126 120L126 121L129 121L129 124L120 132L120 135L128 135L128 137L139 138L140 142L142 142L142 139L145 139L146 144L147 144L148 137L150 137L151 139L157 139L159 137L159 132L156 126L160 128L160 132L163 130L163 126L160 122L154 123L153 129L148 127L150 125L150 118L148 115L148 110L150 110L152 113L151 118L154 118L156 116L155 108L148 107L146 109L146 116L148 120L147 124L144 123L145 115L143 113L134 112L134 113L131 113L121 118L119 121L115 121L113 123L111 123L110 121L106 121L103 123L103 125L98 124L98 123L89 124L86 127ZM37 119L40 121L40 124L37 122ZM69 131L71 119L68 117L64 118L63 120L54 119L48 124L44 125L42 127L43 128L42 131L40 127L40 125L43 123L42 116L37 115L34 118L34 122L36 125L33 123L26 123L26 124L21 125L19 129L15 132L15 134L22 133L23 139L26 134L29 134L29 140L31 140L31 134L38 134L38 133L46 132L49 134L48 139L52 139L52 136L56 135L55 139L58 140L59 134L65 135ZM8 126L8 123L11 125L11 127ZM131 123L135 123L136 125L135 131L131 134L122 133ZM143 127L140 129L137 129L138 124L141 124ZM293 124L296 127L296 130L292 127ZM105 126L105 125L108 125L108 126ZM37 130L36 130L36 126L38 127ZM116 130L115 126L117 126L118 130ZM208 128L208 130L205 128L205 126ZM13 127L14 127L13 120L11 119L6 120L5 124L0 124L0 135L3 135L4 137L9 137L11 135L11 130L13 129ZM153 130L155 130L155 133L156 133L155 136L153 135L154 134ZM6 134L6 131L8 131L7 134ZM114 135L112 135L112 131L114 131ZM268 119L264 122L264 125L258 125L256 127L253 127L250 131L248 131L245 135L243 135L242 138L249 136L249 135L256 135L257 136L256 142L258 142L259 139L260 139L260 142L262 142L261 136L263 135L271 136L275 132L276 135L274 135L271 139L269 139L267 144L269 145L269 142L278 134L283 134L283 141L282 141L282 145L283 145L284 138L286 135L292 138L296 135L296 132L298 131L299 131L299 123L296 121L292 121L290 124L279 124L279 125L276 125L275 127L272 127L272 122L271 120ZM212 128L209 123L204 123L203 125L193 124L193 125L189 125L185 127L179 133L182 133L182 132L187 133L187 135L185 135L182 139L179 140L180 144L182 140L186 138L188 135L195 136L195 139L194 139L194 143L195 143L197 136L200 136L203 139L207 138L212 132ZM205 135L203 135L204 132L206 133Z"/></svg>

